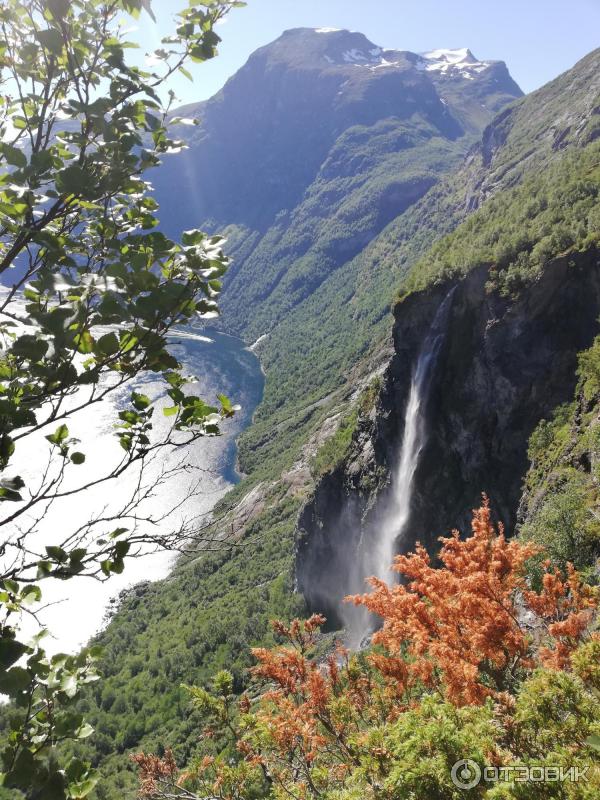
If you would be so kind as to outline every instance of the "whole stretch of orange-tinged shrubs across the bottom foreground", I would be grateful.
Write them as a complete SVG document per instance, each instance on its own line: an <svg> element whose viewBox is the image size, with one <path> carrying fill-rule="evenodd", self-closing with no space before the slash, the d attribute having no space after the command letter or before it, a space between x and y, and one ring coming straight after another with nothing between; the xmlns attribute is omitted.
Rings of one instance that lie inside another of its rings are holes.
<svg viewBox="0 0 600 800"><path fill-rule="evenodd" d="M594 592L571 567L562 577L549 565L541 591L532 591L526 563L537 548L507 540L485 498L473 513L470 537L461 540L454 532L440 541L440 566L417 545L395 560L401 583L371 578L371 592L348 598L383 621L366 661L349 657L341 646L325 660L315 658L325 622L320 615L289 626L273 623L285 644L253 650L253 675L263 693L253 703L244 697L239 706L239 774L236 767L204 759L181 777L173 794L161 794L156 790L165 779L177 786L174 774L169 776L171 757L140 755L134 760L142 795L193 797L180 788L191 778L202 796L254 797L247 789L255 770L269 796L304 800L325 796L327 789L337 797L358 770L369 796L379 796L393 754L378 732L401 723L405 712L424 708L424 690L455 711L495 697L504 710L502 727L511 729L519 683L531 670L570 669L571 655L590 628Z"/></svg>

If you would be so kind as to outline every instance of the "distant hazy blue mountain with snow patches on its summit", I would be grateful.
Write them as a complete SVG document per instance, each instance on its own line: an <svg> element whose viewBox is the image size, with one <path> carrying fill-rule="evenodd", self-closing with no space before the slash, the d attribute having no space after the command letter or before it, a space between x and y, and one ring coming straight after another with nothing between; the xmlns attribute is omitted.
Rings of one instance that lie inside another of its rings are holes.
<svg viewBox="0 0 600 800"><path fill-rule="evenodd" d="M450 59L447 61L446 59ZM189 150L157 173L186 193L165 226L225 229L223 323L269 333L457 164L521 92L468 51L384 51L359 33L299 29L261 48L207 103ZM343 277L340 276L340 280ZM245 310L252 307L252 314Z"/></svg>

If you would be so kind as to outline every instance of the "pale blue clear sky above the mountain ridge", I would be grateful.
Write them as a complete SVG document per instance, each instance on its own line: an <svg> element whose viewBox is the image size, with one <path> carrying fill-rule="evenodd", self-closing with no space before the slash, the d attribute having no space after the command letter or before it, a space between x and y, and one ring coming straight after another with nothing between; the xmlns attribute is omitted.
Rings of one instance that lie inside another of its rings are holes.
<svg viewBox="0 0 600 800"><path fill-rule="evenodd" d="M153 0L158 18L140 22L142 46L158 46L186 0ZM469 47L480 59L501 59L532 91L600 46L599 0L249 0L220 27L215 61L195 67L194 83L178 79L181 102L218 91L248 56L295 27L357 30L375 44L422 52ZM132 36L132 38L134 38Z"/></svg>

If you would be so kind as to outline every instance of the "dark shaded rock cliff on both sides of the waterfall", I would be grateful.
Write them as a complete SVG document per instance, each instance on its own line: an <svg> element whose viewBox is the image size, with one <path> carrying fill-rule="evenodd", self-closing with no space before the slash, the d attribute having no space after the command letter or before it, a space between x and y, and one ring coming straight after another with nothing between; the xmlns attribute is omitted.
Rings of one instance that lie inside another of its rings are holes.
<svg viewBox="0 0 600 800"><path fill-rule="evenodd" d="M456 285L424 414L427 435L416 464L409 521L398 543L411 550L468 525L486 492L511 533L527 445L536 425L572 399L577 354L598 333L600 260L591 250L548 265L511 301L488 292L480 268ZM421 344L451 287L409 296L396 310L395 355L376 410L362 419L352 452L325 476L304 508L296 580L312 609L340 622L339 601L360 591L357 553L381 523L402 441L406 404Z"/></svg>

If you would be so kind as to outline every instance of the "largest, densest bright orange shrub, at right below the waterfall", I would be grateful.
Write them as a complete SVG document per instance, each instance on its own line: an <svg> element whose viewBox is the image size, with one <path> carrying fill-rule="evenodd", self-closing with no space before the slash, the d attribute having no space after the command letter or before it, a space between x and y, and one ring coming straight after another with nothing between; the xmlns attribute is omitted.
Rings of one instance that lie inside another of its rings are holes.
<svg viewBox="0 0 600 800"><path fill-rule="evenodd" d="M464 705L509 689L519 670L536 662L527 611L538 615L547 633L542 663L569 666L595 605L573 569L566 580L547 572L541 594L531 591L525 564L538 549L507 540L502 526L496 531L487 498L473 512L471 537L461 540L454 531L440 541L442 567L432 566L417 545L415 553L395 560L405 583L388 586L372 578L372 592L349 598L383 619L373 644L385 654L371 661L398 694L436 688Z"/></svg>

